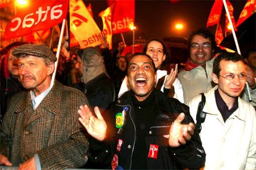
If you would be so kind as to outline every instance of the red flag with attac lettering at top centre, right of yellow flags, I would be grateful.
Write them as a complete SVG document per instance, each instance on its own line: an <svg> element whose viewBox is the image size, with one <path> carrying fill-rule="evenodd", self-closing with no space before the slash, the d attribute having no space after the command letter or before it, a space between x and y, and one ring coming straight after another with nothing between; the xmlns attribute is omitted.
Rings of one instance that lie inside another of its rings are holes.
<svg viewBox="0 0 256 170"><path fill-rule="evenodd" d="M135 2L116 0L112 14L113 34L129 31L129 24L134 23Z"/></svg>

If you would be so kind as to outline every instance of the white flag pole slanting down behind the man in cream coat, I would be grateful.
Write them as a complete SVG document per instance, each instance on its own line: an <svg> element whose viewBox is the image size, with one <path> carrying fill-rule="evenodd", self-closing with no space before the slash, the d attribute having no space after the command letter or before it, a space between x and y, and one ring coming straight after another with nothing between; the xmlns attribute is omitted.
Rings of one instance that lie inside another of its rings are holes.
<svg viewBox="0 0 256 170"><path fill-rule="evenodd" d="M234 41L235 41L235 44L236 44L237 53L241 55L239 44L238 44L238 41L237 41L237 38L236 38L236 32L234 31L234 26L233 26L233 23L232 23L230 14L229 14L228 5L226 3L226 0L223 0L223 4L224 4L225 10L226 10L226 14L228 16L229 25L231 25L231 30L232 30L233 38L234 38ZM247 81L246 81L246 89L247 89L247 92L248 92L249 101L252 101L252 96L250 95L249 84L248 84Z"/></svg>

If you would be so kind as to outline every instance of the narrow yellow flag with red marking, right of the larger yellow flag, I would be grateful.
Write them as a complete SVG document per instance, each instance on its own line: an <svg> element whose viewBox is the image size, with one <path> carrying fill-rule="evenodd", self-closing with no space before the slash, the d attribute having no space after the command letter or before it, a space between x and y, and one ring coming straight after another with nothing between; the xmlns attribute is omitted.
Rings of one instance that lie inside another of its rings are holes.
<svg viewBox="0 0 256 170"><path fill-rule="evenodd" d="M112 49L112 26L111 26L111 7L100 12L99 16L102 18L103 35L106 38L109 49Z"/></svg>

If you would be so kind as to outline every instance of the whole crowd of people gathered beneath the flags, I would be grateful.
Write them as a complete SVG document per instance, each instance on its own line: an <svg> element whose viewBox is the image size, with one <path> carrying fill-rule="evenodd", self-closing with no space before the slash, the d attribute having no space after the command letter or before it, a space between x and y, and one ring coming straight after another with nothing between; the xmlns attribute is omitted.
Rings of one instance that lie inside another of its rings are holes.
<svg viewBox="0 0 256 170"><path fill-rule="evenodd" d="M147 41L1 51L0 166L19 169L256 169L256 51L218 51L200 28L184 67Z"/></svg>

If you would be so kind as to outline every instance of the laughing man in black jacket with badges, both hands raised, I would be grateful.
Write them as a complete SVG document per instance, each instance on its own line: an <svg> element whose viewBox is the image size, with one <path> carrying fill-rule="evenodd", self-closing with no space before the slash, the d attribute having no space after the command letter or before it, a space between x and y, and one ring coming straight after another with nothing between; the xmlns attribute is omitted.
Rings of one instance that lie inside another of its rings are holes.
<svg viewBox="0 0 256 170"><path fill-rule="evenodd" d="M132 57L127 71L131 91L113 105L111 114L115 121L106 114L101 116L97 107L96 116L87 105L80 107L79 121L95 138L90 141L92 160L111 165L112 169L203 166L205 152L198 132L194 131L189 108L154 88L155 73L155 65L148 55ZM113 126L116 131L112 130Z"/></svg>

